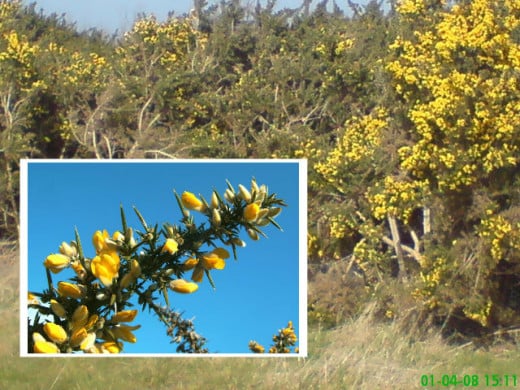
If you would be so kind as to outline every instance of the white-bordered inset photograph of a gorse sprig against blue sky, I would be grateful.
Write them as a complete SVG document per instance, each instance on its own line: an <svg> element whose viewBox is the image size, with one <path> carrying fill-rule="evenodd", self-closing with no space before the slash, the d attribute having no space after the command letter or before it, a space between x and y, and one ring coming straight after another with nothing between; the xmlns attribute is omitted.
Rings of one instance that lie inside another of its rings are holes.
<svg viewBox="0 0 520 390"><path fill-rule="evenodd" d="M306 160L21 174L21 356L306 356Z"/></svg>

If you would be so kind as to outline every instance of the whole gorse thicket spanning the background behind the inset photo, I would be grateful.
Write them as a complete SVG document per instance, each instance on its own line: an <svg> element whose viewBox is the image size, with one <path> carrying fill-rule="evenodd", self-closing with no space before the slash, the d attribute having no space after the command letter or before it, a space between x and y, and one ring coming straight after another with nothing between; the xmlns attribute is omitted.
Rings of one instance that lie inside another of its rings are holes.
<svg viewBox="0 0 520 390"><path fill-rule="evenodd" d="M197 1L108 38L0 1L2 231L23 157L307 158L313 266L352 259L385 320L518 326L517 2L326 3Z"/></svg>

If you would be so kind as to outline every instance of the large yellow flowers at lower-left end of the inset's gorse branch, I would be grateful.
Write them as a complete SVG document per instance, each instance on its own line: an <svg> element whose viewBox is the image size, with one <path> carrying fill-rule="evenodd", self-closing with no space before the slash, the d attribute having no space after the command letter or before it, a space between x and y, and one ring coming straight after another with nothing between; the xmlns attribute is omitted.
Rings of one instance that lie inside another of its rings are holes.
<svg viewBox="0 0 520 390"><path fill-rule="evenodd" d="M99 279L106 288L113 285L120 267L118 250L125 240L135 244L132 237L128 237L127 240L120 232L115 232L110 238L106 230L98 230L92 237L96 250L96 256L92 260L80 258L76 242L63 242L60 245L60 253L47 256L44 261L47 269L59 273L70 267L81 283L58 282L59 297L50 300L50 309L55 321L43 325L43 332L47 338L39 332L33 333L33 352L71 353L81 350L85 353L119 353L123 346L119 340L136 342L132 331L140 326L122 325L120 322L133 321L137 310L120 311L111 319L107 319L89 313L86 304L81 303L86 298L87 283L92 277ZM127 287L139 275L140 266L137 260L134 260L130 272L122 278L119 287ZM98 298L103 299L105 295L105 292L99 292Z"/></svg>

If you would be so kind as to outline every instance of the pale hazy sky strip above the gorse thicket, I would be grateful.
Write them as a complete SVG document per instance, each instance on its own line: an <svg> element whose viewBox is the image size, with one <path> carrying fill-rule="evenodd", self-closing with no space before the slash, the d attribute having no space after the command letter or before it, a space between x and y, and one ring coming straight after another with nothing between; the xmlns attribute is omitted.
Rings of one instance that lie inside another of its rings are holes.
<svg viewBox="0 0 520 390"><path fill-rule="evenodd" d="M33 0L23 0L23 4L31 4ZM317 1L315 0L314 3ZM218 1L209 0L208 4ZM266 0L261 1L265 5ZM341 2L339 2L341 3ZM256 1L251 2L256 4ZM302 4L302 0L280 0L276 9L296 8ZM115 30L128 31L140 13L153 14L158 20L163 21L170 11L181 16L193 8L192 0L36 0L36 9L43 9L49 15L66 14L66 20L76 22L80 30L97 27L109 33Z"/></svg>

